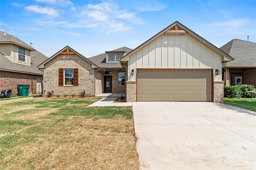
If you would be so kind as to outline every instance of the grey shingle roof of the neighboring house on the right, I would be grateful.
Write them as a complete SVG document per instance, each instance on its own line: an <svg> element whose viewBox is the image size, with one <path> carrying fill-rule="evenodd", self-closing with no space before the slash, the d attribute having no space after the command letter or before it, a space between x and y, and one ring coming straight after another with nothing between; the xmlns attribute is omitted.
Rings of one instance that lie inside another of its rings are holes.
<svg viewBox="0 0 256 170"><path fill-rule="evenodd" d="M256 67L256 43L232 39L220 49L234 58L222 63L222 67Z"/></svg>

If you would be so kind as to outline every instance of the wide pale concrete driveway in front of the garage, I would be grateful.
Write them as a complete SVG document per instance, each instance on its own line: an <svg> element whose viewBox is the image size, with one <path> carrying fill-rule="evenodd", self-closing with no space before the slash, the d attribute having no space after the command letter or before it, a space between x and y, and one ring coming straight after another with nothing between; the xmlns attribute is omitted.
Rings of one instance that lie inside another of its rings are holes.
<svg viewBox="0 0 256 170"><path fill-rule="evenodd" d="M133 103L141 169L256 169L256 112L212 102Z"/></svg>

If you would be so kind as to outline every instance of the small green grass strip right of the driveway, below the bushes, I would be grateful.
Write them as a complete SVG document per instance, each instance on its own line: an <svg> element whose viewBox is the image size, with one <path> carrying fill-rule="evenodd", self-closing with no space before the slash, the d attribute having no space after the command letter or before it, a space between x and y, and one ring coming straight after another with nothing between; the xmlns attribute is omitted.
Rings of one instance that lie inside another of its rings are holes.
<svg viewBox="0 0 256 170"><path fill-rule="evenodd" d="M224 98L224 104L256 111L256 99Z"/></svg>

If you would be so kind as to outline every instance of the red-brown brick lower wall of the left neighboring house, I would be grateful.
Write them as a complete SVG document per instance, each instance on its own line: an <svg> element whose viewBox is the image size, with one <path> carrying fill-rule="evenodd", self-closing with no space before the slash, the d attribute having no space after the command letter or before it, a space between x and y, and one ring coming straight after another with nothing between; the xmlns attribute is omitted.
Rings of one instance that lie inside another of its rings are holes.
<svg viewBox="0 0 256 170"><path fill-rule="evenodd" d="M36 80L35 78L42 79L43 76L26 74L19 72L10 72L0 70L0 91L11 89L12 94L18 94L17 84L30 85L29 92L36 94Z"/></svg>

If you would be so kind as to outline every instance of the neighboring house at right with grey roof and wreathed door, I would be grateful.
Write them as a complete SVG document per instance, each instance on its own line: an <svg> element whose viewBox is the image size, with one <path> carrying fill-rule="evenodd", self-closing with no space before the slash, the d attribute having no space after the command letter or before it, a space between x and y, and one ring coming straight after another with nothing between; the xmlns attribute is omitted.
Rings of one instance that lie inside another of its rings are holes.
<svg viewBox="0 0 256 170"><path fill-rule="evenodd" d="M233 39L220 49L234 58L234 61L222 63L224 86L256 86L256 43Z"/></svg>

